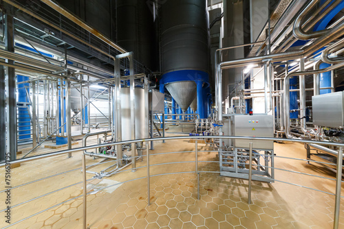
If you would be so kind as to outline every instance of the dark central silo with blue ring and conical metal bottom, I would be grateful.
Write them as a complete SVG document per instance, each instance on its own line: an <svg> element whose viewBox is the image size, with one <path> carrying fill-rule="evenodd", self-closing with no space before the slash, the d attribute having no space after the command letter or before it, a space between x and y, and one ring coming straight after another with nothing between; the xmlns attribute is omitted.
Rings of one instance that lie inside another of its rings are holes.
<svg viewBox="0 0 344 229"><path fill-rule="evenodd" d="M166 0L160 6L162 80L166 89L185 111L197 95L201 118L205 104L202 90L209 81L209 35L206 0ZM190 81L195 82L193 90ZM186 82L186 83L184 83ZM173 86L178 84L178 86ZM196 89L197 85L197 89ZM178 91L184 93L178 93ZM197 91L199 92L197 94ZM187 93L185 93L187 92ZM185 98L187 97L187 98ZM186 104L187 102L187 104Z"/></svg>

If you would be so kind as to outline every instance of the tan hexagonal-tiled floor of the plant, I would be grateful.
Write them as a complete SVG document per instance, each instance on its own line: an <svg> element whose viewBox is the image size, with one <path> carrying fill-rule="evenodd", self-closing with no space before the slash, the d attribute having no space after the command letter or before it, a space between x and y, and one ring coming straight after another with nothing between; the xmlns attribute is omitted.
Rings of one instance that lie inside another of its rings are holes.
<svg viewBox="0 0 344 229"><path fill-rule="evenodd" d="M178 135L169 134L182 132L178 128L170 126L166 136ZM184 126L183 131L187 132L188 128ZM92 141L89 145L96 143L96 138ZM76 147L80 146L81 143ZM178 163L151 167L151 175L170 174L151 177L150 206L147 206L146 158L138 160L136 172L127 167L122 173L100 180L92 179L93 175L87 173L87 191L92 191L87 196L89 228L333 228L334 195L328 193L335 191L335 181L332 180L335 177L316 163L308 165L304 160L275 158L275 167L279 169L313 175L305 176L276 169L276 180L310 189L283 182L253 182L252 204L247 203L247 180L223 177L218 173L201 173L201 196L197 200L197 177L193 172L195 162L192 162L195 153L188 152L194 149L195 143L187 140L154 143L151 165ZM198 149L206 151L211 150L211 147L199 143ZM34 154L51 151L41 147ZM164 152L186 153L161 154ZM305 159L305 149L297 143L275 143L275 154ZM216 152L200 152L199 160L214 161L200 162L200 171L219 171ZM100 161L87 156L87 165ZM109 165L110 162L88 170L100 171ZM0 228L81 228L83 198L80 195L83 193L83 184L80 168L81 152L77 152L72 158L65 155L45 158L25 162L12 169L11 182L16 187L11 192L12 224L1 220ZM4 174L3 168L0 171ZM184 173L171 174L175 172ZM132 181L125 182L127 180ZM6 200L4 181L5 178L0 180L0 200ZM5 202L1 201L0 210L5 208ZM342 200L339 228L344 228L343 211ZM1 215L3 219L5 213L1 211Z"/></svg>

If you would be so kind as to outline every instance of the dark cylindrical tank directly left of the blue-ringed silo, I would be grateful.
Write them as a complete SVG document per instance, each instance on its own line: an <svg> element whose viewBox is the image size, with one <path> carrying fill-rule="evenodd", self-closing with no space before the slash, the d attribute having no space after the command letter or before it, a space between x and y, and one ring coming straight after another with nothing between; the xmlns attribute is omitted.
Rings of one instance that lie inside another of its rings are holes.
<svg viewBox="0 0 344 229"><path fill-rule="evenodd" d="M153 8L147 0L118 0L117 43L133 51L134 59L155 70Z"/></svg>

